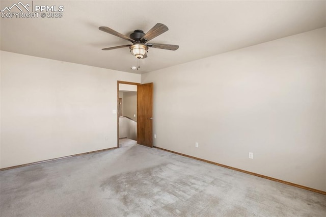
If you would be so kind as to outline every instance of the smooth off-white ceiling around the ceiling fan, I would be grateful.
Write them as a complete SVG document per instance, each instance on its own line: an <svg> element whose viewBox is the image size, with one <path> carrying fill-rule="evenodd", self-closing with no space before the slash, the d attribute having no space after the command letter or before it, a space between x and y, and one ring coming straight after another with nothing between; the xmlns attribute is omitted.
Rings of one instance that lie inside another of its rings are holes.
<svg viewBox="0 0 326 217"><path fill-rule="evenodd" d="M1 10L17 1L1 1ZM32 1L22 1L32 3ZM62 18L0 18L1 50L132 73L146 73L326 26L326 1L37 1L64 6ZM152 43L139 71L129 48L101 48L128 41L99 31L108 26L129 36L157 22L169 31Z"/></svg>

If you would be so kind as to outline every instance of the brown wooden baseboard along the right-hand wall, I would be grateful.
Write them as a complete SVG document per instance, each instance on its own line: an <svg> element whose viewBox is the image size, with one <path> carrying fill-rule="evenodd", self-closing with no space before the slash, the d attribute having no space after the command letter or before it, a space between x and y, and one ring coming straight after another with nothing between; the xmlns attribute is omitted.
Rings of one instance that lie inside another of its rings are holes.
<svg viewBox="0 0 326 217"><path fill-rule="evenodd" d="M204 162L207 162L209 164L217 165L217 166L220 166L220 167L225 167L225 168L228 168L228 169L231 169L231 170L236 170L236 171L239 171L239 172L242 172L242 173L247 173L247 174L250 174L250 175L253 175L253 176L258 176L258 177L261 177L261 178L264 178L264 179L269 179L269 180L272 180L272 181L280 182L280 183L291 185L291 186L294 186L294 187L299 187L299 188L306 189L306 190L311 191L311 192L316 192L316 193L319 193L319 194L322 194L322 195L326 195L326 192L320 191L320 190L315 189L315 188L303 186L303 185L300 185L300 184L295 184L295 183L292 183L292 182L276 179L276 178L261 175L261 174L258 174L258 173L249 172L249 171L246 171L246 170L241 170L241 169L238 169L238 168L234 168L234 167L230 167L230 166L227 166L227 165L219 164L217 162L201 159L201 158L198 158L198 157L182 154L182 153L175 152L175 151L171 151L171 150L168 150L168 149L165 149L165 148L159 148L159 147L156 147L156 146L154 146L154 148L164 150L164 151L168 151L168 152L171 152L171 153L174 153L174 154L179 154L179 155L189 157L189 158L193 158L193 159L196 159L196 160L204 161Z"/></svg>

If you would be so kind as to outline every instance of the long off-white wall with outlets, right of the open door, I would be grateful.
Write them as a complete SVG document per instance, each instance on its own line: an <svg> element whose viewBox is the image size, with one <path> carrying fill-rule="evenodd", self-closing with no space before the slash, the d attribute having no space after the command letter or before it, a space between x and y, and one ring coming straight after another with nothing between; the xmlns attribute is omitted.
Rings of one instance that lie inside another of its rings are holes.
<svg viewBox="0 0 326 217"><path fill-rule="evenodd" d="M154 145L326 191L325 31L143 74Z"/></svg>

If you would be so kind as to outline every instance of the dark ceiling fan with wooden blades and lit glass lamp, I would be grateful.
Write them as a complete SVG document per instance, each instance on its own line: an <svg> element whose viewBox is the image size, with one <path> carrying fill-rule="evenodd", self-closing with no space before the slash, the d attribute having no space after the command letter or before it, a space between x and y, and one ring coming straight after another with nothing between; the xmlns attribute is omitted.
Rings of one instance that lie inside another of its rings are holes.
<svg viewBox="0 0 326 217"><path fill-rule="evenodd" d="M129 47L130 53L138 59L147 58L147 51L149 47L167 49L167 50L176 50L179 48L179 45L173 44L157 44L157 43L147 43L153 38L159 36L162 33L167 32L168 26L162 23L156 23L152 29L150 29L146 34L142 30L135 30L130 36L125 36L117 31L114 31L106 26L100 26L99 30L118 36L122 39L130 41L132 44L120 45L116 47L103 48L102 50L113 50L117 48Z"/></svg>

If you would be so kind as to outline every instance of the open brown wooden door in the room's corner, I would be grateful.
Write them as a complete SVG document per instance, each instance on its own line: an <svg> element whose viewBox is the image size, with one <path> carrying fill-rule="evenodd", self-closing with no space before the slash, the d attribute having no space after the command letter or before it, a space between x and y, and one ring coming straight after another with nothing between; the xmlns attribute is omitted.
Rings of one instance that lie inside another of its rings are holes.
<svg viewBox="0 0 326 217"><path fill-rule="evenodd" d="M153 83L137 87L137 143L153 147Z"/></svg>

